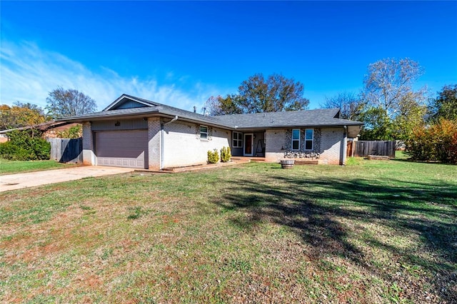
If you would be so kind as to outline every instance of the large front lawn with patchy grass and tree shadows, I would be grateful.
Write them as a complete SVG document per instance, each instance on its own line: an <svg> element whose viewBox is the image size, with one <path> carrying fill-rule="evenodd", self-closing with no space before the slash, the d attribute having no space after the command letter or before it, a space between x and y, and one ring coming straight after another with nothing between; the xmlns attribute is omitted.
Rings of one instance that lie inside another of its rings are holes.
<svg viewBox="0 0 457 304"><path fill-rule="evenodd" d="M350 158L9 191L0 302L454 303L456 173Z"/></svg>

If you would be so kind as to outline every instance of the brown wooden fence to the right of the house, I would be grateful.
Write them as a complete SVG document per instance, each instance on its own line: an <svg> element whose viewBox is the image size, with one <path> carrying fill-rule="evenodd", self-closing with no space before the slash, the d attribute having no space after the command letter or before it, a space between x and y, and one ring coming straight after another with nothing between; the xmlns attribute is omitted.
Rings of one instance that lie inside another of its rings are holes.
<svg viewBox="0 0 457 304"><path fill-rule="evenodd" d="M347 156L378 155L395 158L395 148L395 141L348 141Z"/></svg>

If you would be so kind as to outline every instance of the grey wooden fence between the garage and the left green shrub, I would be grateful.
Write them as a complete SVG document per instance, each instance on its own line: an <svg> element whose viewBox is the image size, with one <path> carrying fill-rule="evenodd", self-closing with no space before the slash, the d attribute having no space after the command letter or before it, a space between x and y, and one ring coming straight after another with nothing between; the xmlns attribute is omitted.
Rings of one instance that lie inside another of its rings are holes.
<svg viewBox="0 0 457 304"><path fill-rule="evenodd" d="M47 138L51 143L51 159L60 163L83 162L83 138Z"/></svg>

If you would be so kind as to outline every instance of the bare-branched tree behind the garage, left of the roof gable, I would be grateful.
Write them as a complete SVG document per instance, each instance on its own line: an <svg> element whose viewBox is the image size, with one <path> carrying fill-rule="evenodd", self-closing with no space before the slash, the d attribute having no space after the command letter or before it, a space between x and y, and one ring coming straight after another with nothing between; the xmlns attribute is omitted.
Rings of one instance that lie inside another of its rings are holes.
<svg viewBox="0 0 457 304"><path fill-rule="evenodd" d="M46 110L52 118L77 116L96 111L94 99L74 89L65 90L61 86L49 92Z"/></svg>

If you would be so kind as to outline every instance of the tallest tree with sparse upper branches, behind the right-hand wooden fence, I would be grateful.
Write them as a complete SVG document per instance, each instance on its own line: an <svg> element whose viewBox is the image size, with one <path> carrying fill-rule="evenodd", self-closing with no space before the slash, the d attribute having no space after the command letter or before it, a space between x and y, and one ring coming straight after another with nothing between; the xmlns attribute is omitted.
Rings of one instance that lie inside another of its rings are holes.
<svg viewBox="0 0 457 304"><path fill-rule="evenodd" d="M423 68L408 58L382 59L368 66L362 93L367 105L363 139L404 138L413 127L411 122L423 121L427 90L426 87L413 89L422 74ZM408 115L411 115L406 118L408 127L398 126L405 123L401 116Z"/></svg>

